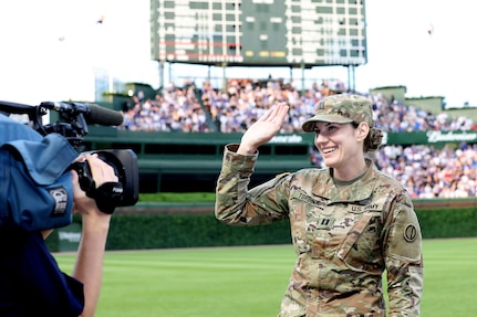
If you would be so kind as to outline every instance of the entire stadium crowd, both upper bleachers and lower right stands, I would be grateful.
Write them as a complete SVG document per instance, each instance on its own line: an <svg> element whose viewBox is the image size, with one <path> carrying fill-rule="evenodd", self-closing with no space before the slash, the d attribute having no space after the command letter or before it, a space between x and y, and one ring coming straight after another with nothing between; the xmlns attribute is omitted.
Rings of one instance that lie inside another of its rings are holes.
<svg viewBox="0 0 477 317"><path fill-rule="evenodd" d="M290 105L289 118L281 133L300 133L301 123L313 114L320 98L345 93L339 80L313 83L303 94L293 83L282 81L230 80L227 89L205 82L198 89L193 81L183 87L169 84L154 99L133 97L134 106L125 112L120 128L149 131L242 133L278 102ZM364 94L365 95L365 94ZM376 127L386 133L476 129L469 118L450 118L446 113L432 114L382 95L366 95L373 101ZM384 146L374 157L377 166L395 177L412 198L467 198L477 196L477 145ZM310 160L321 166L315 149Z"/></svg>

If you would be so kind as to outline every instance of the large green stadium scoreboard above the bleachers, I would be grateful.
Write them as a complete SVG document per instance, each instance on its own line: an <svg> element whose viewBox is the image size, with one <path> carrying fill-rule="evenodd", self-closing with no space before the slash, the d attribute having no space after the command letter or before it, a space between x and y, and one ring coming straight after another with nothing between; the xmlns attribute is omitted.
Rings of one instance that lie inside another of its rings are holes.
<svg viewBox="0 0 477 317"><path fill-rule="evenodd" d="M205 65L366 63L364 0L151 0L152 60Z"/></svg>

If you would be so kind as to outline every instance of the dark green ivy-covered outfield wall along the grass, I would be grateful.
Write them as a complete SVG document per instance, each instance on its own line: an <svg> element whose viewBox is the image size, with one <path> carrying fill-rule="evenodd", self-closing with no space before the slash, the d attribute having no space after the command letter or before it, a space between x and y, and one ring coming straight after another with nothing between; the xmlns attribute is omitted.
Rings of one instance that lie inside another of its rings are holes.
<svg viewBox="0 0 477 317"><path fill-rule="evenodd" d="M424 239L477 236L477 201L415 201ZM60 235L77 236L81 218L55 230L46 240L53 252L74 251L77 243L64 245ZM111 221L106 250L147 250L231 245L289 244L290 224L281 221L260 226L230 226L215 219L212 203L141 204L118 208Z"/></svg>

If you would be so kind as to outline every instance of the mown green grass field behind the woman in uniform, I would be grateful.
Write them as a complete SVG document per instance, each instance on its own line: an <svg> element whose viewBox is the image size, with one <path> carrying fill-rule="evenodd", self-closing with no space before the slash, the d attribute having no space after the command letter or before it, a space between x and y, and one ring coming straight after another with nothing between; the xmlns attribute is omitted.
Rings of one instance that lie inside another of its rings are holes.
<svg viewBox="0 0 477 317"><path fill-rule="evenodd" d="M424 241L424 317L477 311L477 239ZM64 272L74 255L56 253ZM273 317L290 245L107 252L96 316Z"/></svg>

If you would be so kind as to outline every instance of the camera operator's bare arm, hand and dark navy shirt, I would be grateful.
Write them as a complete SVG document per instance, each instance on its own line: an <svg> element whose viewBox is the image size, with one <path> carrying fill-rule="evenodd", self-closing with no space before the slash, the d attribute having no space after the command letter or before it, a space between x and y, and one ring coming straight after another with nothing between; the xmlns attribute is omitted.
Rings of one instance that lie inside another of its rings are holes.
<svg viewBox="0 0 477 317"><path fill-rule="evenodd" d="M76 160L87 160L96 188L117 182L113 168L96 155L81 155ZM76 171L71 173L74 212L82 216L73 273L63 273L44 244L52 230L1 229L0 316L94 316L111 214L81 189Z"/></svg>

